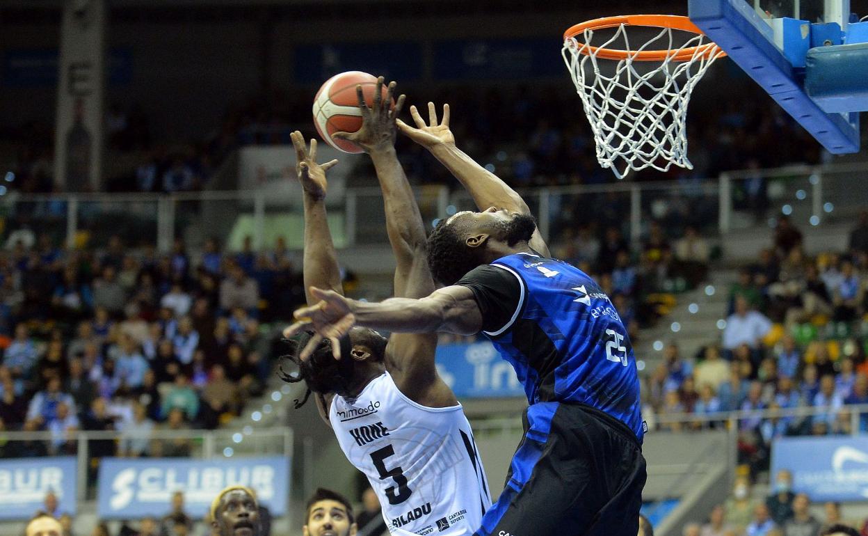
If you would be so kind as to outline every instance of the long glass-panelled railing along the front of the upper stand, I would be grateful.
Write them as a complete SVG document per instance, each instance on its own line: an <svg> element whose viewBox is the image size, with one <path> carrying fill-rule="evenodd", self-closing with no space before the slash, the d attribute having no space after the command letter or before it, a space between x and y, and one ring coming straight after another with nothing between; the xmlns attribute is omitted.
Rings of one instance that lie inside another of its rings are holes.
<svg viewBox="0 0 868 536"><path fill-rule="evenodd" d="M865 175L865 176L863 176ZM601 185L574 185L520 190L536 215L542 235L550 237L559 224L595 221L621 227L624 235L638 242L644 225L670 215L706 231L725 234L746 227L735 215L749 214L745 206L747 181L761 176L768 189L768 215L792 215L797 224L821 225L830 215L855 214L868 206L868 189L853 184L868 179L868 164L843 163L823 166L797 165L779 169L727 172L717 179L676 182L616 182ZM456 210L473 208L463 189L450 193L446 186L416 190L422 215L430 223ZM385 215L378 188L349 188L330 198L335 220L332 233L339 247L385 244ZM244 231L259 249L272 243L275 233L300 241L301 202L274 199L265 189L182 192L173 194L57 194L23 195L11 191L0 196L0 215L9 223L5 232L16 229L16 220L33 228L62 235L69 246L76 244L81 231L94 236L123 232L171 248L174 236L193 226L199 238L215 236L226 242L237 223L245 220ZM273 229L268 218L286 216ZM293 219L294 218L294 219ZM746 220L747 218L741 218ZM804 220L804 221L803 221ZM240 242L236 236L235 242ZM193 247L199 244L189 244ZM291 246L293 244L291 243ZM298 243L295 244L299 246Z"/></svg>

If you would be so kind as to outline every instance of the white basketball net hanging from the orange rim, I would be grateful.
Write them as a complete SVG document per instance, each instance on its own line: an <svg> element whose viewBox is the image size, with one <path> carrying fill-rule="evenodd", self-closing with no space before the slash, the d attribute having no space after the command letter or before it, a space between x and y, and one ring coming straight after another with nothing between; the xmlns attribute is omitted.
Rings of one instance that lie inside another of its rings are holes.
<svg viewBox="0 0 868 536"><path fill-rule="evenodd" d="M604 43L593 43L594 30L584 30L581 44L573 37L563 43L563 61L594 132L597 161L619 179L630 169L667 171L672 164L693 169L687 160L687 103L706 69L724 54L719 49L709 53L701 48L710 43L704 35L673 47L673 32L677 30L671 28L661 29L653 39L632 50L627 29L628 24L621 24ZM669 54L660 65L634 60L634 56L622 60L597 57L613 43L634 53L666 49L668 43ZM700 48L675 59L690 47Z"/></svg>

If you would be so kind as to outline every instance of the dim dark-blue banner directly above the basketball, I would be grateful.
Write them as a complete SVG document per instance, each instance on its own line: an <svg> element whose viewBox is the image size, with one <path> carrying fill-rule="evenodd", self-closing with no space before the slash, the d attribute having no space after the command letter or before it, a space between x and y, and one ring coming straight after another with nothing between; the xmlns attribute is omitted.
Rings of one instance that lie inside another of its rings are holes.
<svg viewBox="0 0 868 536"><path fill-rule="evenodd" d="M295 49L295 82L324 83L346 70L361 70L406 83L422 77L422 63L421 43L305 44Z"/></svg>

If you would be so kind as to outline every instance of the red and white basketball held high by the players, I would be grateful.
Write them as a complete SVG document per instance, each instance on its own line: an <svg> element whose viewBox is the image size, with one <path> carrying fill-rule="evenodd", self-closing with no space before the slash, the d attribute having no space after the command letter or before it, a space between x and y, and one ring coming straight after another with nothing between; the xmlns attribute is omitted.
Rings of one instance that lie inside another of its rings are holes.
<svg viewBox="0 0 868 536"><path fill-rule="evenodd" d="M332 134L335 132L356 132L362 128L362 112L358 109L358 96L356 96L356 86L359 84L365 95L365 103L372 106L377 76L358 70L349 70L332 76L319 88L317 96L313 99L313 124L317 127L319 137L333 148L345 153L364 152L351 142L332 139ZM388 88L384 84L383 98L387 93ZM394 106L395 103L391 105Z"/></svg>

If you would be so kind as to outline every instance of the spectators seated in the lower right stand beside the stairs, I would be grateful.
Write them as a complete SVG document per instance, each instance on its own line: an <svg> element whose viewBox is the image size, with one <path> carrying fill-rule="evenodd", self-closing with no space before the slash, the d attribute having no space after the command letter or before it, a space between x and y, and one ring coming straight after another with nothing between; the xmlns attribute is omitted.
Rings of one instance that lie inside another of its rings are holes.
<svg viewBox="0 0 868 536"><path fill-rule="evenodd" d="M786 217L773 247L740 268L729 289L730 314L720 341L708 341L695 359L677 341L646 379L650 414L718 414L767 410L738 420L740 461L753 473L768 467L770 446L784 435L868 431L868 414L850 405L868 403L868 212L860 215L843 253L808 257L802 235ZM815 408L812 415L780 410ZM661 427L718 427L702 420Z"/></svg>

